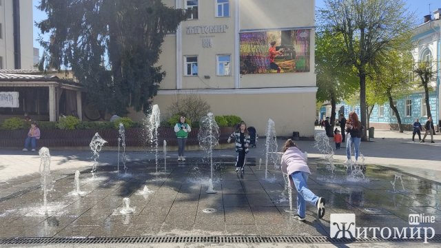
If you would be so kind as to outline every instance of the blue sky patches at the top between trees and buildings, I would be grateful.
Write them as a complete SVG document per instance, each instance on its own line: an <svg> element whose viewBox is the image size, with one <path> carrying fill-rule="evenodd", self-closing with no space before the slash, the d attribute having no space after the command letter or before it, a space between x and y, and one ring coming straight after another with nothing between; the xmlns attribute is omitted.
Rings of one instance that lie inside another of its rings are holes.
<svg viewBox="0 0 441 248"><path fill-rule="evenodd" d="M312 1L312 0L311 0ZM407 7L411 12L416 12L416 16L418 17L418 20L416 20L416 23L422 23L423 17L426 14L429 14L429 4L430 4L430 12L433 12L434 10L441 8L441 2L440 0L404 0L407 3ZM45 19L46 15L44 12L41 12L35 6L38 6L40 3L40 0L32 0L32 5L34 6L34 21L41 21L42 19ZM325 0L316 0L316 7L324 7L325 6ZM40 30L34 26L34 48L40 48L40 55L43 53L43 48L40 47L39 42L37 41L37 38L39 37ZM48 37L45 38L48 40Z"/></svg>

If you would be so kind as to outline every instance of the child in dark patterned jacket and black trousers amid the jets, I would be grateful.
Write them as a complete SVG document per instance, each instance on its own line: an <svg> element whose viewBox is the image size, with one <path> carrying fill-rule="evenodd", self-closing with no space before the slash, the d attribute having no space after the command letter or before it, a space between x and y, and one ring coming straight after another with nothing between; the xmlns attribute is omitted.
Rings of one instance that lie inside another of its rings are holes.
<svg viewBox="0 0 441 248"><path fill-rule="evenodd" d="M245 165L245 154L248 153L249 149L249 134L247 130L247 124L241 122L239 124L238 130L236 130L232 135L229 136L227 142L230 143L232 138L235 138L237 159L236 159L236 172L240 170L243 171Z"/></svg>

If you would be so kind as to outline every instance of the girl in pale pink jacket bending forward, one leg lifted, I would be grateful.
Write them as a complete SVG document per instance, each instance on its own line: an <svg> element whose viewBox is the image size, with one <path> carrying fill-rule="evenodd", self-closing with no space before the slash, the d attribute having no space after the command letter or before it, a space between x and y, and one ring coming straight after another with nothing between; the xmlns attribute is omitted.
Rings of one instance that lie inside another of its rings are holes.
<svg viewBox="0 0 441 248"><path fill-rule="evenodd" d="M306 163L305 154L297 148L296 143L289 138L283 146L283 156L280 162L282 172L289 175L290 187L297 189L297 214L293 216L297 220L306 220L306 202L317 207L318 218L325 215L325 198L318 197L307 186L307 180L311 171Z"/></svg>

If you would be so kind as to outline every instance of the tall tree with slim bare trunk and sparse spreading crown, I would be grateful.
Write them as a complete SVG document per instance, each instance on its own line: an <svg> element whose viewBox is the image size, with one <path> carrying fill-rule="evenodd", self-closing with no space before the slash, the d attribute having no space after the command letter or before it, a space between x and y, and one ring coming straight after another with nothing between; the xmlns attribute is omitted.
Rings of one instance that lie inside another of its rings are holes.
<svg viewBox="0 0 441 248"><path fill-rule="evenodd" d="M360 119L367 125L366 77L369 66L378 63L394 37L413 27L413 14L407 13L402 0L327 0L319 20L326 30L342 35L345 47L342 65L353 65L360 84ZM366 136L365 136L366 137ZM363 138L365 140L366 138Z"/></svg>

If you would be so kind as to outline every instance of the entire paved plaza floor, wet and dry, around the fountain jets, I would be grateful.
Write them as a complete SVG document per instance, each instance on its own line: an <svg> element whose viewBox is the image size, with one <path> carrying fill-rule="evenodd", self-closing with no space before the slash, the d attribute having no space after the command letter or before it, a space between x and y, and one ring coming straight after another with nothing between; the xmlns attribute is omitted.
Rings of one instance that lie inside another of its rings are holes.
<svg viewBox="0 0 441 248"><path fill-rule="evenodd" d="M350 176L351 171L338 162L339 156L344 158L342 149L336 151L334 169L314 152L312 142L299 141L300 147L309 152L309 188L327 199L324 218L318 220L316 207L308 206L305 223L287 212L296 208L296 193L290 207L280 169L269 165L265 178L265 162L258 160L262 147L252 149L243 174L234 171L234 150L214 152L216 194L206 193L210 167L201 159L202 152L188 152L185 162L175 161L174 152L170 152L172 158L166 167L163 159L156 167L152 154L128 152L127 174L121 164L120 172L115 172L115 152L102 152L98 172L92 175L90 152L54 149L54 187L48 194L47 209L43 208L40 176L35 173L39 157L3 150L1 156L5 159L0 169L13 171L14 164L6 166L9 159L23 172L0 177L0 238L329 236L330 214L355 214L357 227L432 227L435 234L441 234L441 184L432 180L439 180L439 147L400 138L381 142L362 143L364 154L377 155L367 156L363 178ZM381 152L381 147L394 148ZM438 155L431 154L430 161L419 160L416 165L410 158L413 154L399 153L402 147L410 147L413 152L438 148ZM400 163L380 165L387 156L399 158ZM400 164L402 167L398 167ZM420 174L412 173L412 164ZM81 170L81 195L72 194L76 189L75 169ZM151 194L141 194L145 186ZM126 197L130 198L133 214L120 212ZM205 213L207 209L214 212ZM433 216L435 221L409 225L409 214Z"/></svg>

